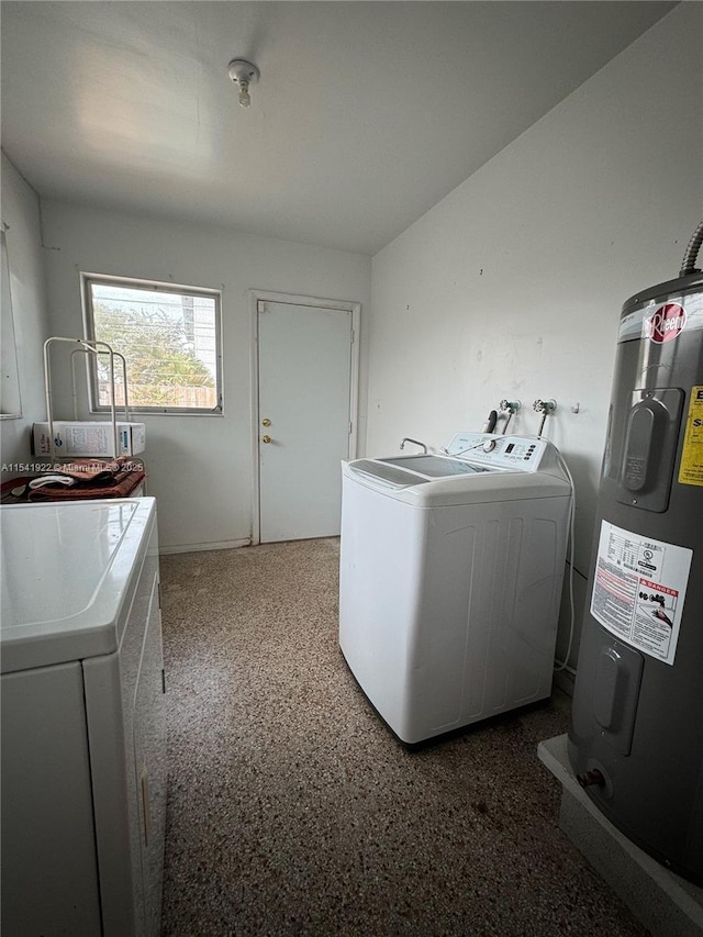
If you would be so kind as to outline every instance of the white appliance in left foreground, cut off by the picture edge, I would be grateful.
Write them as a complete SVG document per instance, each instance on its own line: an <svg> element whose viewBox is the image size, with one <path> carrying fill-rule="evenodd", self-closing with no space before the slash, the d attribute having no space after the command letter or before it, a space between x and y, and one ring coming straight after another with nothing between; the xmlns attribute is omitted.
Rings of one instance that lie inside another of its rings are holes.
<svg viewBox="0 0 703 937"><path fill-rule="evenodd" d="M155 500L0 512L3 937L156 937L167 766Z"/></svg>

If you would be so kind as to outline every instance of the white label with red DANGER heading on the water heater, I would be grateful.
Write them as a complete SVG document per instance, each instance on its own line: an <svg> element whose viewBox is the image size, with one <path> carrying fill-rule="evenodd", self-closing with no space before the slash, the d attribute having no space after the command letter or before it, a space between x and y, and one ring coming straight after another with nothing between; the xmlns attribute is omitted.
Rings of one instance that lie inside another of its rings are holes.
<svg viewBox="0 0 703 937"><path fill-rule="evenodd" d="M693 550L603 521L591 614L638 650L673 665Z"/></svg>

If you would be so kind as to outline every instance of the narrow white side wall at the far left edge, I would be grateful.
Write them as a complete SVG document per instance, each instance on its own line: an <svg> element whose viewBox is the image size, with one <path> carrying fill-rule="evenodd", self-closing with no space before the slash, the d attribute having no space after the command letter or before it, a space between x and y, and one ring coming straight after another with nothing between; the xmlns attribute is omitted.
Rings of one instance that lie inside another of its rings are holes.
<svg viewBox="0 0 703 937"><path fill-rule="evenodd" d="M2 154L2 222L10 265L20 401L18 419L0 421L3 478L23 475L16 464L33 461L32 423L46 419L43 346L48 335L40 203L34 189Z"/></svg>

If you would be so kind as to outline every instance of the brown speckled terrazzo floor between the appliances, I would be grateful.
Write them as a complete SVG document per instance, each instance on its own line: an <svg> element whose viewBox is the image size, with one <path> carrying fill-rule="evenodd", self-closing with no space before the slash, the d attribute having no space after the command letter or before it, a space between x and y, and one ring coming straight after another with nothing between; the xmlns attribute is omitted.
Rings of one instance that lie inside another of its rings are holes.
<svg viewBox="0 0 703 937"><path fill-rule="evenodd" d="M557 826L568 701L410 752L337 645L335 539L161 559L163 934L647 932Z"/></svg>

